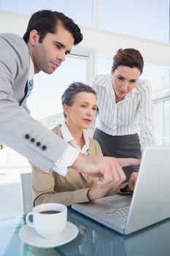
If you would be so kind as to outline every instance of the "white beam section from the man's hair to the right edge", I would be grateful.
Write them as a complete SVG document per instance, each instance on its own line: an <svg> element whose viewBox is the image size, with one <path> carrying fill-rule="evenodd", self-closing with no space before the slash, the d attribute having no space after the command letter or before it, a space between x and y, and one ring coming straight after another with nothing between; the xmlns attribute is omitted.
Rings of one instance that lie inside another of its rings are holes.
<svg viewBox="0 0 170 256"><path fill-rule="evenodd" d="M82 27L82 34L82 46L97 48L106 56L112 57L119 48L136 48L144 61L170 67L169 44L87 27Z"/></svg>

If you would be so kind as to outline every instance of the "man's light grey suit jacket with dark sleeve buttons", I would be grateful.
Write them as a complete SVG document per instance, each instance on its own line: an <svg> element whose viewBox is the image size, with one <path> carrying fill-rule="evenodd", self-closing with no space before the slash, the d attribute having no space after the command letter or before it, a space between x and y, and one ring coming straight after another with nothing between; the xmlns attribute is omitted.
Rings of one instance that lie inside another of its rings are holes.
<svg viewBox="0 0 170 256"><path fill-rule="evenodd" d="M48 171L67 143L29 115L29 67L26 42L15 34L0 34L0 140Z"/></svg>

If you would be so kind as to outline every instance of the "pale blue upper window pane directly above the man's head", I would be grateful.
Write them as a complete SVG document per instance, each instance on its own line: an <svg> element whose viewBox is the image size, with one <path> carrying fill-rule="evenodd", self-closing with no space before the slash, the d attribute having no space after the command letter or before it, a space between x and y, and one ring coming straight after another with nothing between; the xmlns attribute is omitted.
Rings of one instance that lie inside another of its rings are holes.
<svg viewBox="0 0 170 256"><path fill-rule="evenodd" d="M85 26L91 26L92 24L93 0L30 0L23 2L20 2L20 0L1 0L0 8L27 15L39 10L56 10L63 12L78 24Z"/></svg>

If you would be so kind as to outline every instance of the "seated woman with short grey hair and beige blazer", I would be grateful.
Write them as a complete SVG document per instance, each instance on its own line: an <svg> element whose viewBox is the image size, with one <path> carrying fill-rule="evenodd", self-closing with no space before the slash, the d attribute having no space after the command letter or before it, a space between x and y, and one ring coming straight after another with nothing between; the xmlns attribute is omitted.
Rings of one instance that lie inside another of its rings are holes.
<svg viewBox="0 0 170 256"><path fill-rule="evenodd" d="M96 92L84 83L72 83L64 91L61 99L66 123L55 127L53 132L83 154L102 156L98 142L88 138L85 132L97 113ZM34 205L63 203L70 206L72 203L84 203L106 195L114 195L120 191L120 187L118 189L99 188L96 185L98 178L77 173L71 167L64 177L53 170L45 173L39 167L33 166L32 177ZM121 187L125 185L127 184ZM134 189L133 177L125 189L129 192Z"/></svg>

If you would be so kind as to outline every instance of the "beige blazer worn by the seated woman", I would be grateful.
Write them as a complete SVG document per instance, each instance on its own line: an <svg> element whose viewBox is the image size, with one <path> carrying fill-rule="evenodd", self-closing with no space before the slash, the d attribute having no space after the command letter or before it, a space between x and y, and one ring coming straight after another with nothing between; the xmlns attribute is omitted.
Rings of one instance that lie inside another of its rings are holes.
<svg viewBox="0 0 170 256"><path fill-rule="evenodd" d="M53 132L63 138L60 126L55 127ZM101 147L96 140L90 139L89 154L102 155ZM45 173L39 167L33 165L34 206L42 203L63 203L70 206L72 203L88 202L88 189L93 187L97 180L98 178L78 173L71 167L69 167L66 176L63 177L53 170L50 173ZM110 190L108 195L115 195L119 190Z"/></svg>

